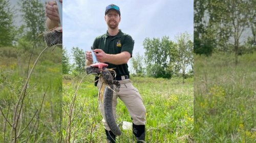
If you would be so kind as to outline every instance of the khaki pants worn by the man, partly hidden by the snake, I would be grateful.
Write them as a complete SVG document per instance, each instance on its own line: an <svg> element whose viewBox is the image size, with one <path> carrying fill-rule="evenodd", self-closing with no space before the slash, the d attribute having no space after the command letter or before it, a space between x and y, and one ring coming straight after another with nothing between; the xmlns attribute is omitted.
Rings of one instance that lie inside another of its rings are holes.
<svg viewBox="0 0 256 143"><path fill-rule="evenodd" d="M122 78L123 79L123 78ZM112 110L113 115L116 120L116 105L117 105L117 97L119 97L126 108L128 109L130 116L133 119L133 123L135 125L145 125L146 123L146 109L143 105L142 98L136 88L133 87L130 79L119 80L120 82L120 91L118 93L113 93L113 101L112 101ZM100 91L102 85L102 81L99 80L97 84L98 91ZM103 102L99 101L99 109L101 112L101 116L103 116ZM105 120L102 119L102 123L106 130L110 130Z"/></svg>

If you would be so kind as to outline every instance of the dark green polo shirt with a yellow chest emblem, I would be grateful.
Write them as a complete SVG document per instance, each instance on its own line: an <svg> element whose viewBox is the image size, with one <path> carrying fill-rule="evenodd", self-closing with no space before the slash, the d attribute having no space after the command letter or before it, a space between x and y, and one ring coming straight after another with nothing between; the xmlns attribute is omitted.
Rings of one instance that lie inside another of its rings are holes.
<svg viewBox="0 0 256 143"><path fill-rule="evenodd" d="M133 47L134 47L134 40L130 35L124 34L119 30L118 34L116 36L110 36L108 34L108 31L106 34L103 34L101 36L98 36L95 38L93 42L93 49L102 49L105 53L108 54L118 54L123 51L127 51L131 54L133 53ZM128 71L128 65L122 64L122 65L114 65L110 63L108 64L108 68L114 68L116 71L117 76L121 75L129 75Z"/></svg>

